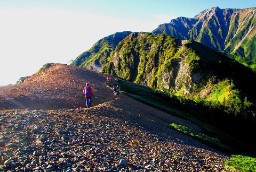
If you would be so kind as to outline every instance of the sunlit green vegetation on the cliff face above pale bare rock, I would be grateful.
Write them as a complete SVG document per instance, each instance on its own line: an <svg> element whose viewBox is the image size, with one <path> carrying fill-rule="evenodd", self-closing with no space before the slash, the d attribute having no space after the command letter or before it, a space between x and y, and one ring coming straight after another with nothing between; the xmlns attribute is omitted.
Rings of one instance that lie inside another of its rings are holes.
<svg viewBox="0 0 256 172"><path fill-rule="evenodd" d="M183 83L179 82L176 89L169 89L173 86L175 78L167 75L177 73L177 65L182 65L187 70L185 75L181 76L184 81L199 67L199 59L193 49L182 46L178 39L138 32L131 33L117 45L102 72L112 73L142 85L146 80L152 88L174 93L182 89ZM189 82L185 83L188 87Z"/></svg>

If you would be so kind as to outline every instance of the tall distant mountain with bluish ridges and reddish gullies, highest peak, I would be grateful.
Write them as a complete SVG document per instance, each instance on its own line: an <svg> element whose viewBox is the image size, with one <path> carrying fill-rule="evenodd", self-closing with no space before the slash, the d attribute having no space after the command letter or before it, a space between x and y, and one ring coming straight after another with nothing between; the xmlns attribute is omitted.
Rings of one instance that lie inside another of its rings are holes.
<svg viewBox="0 0 256 172"><path fill-rule="evenodd" d="M179 39L193 39L223 53L241 57L256 71L256 8L220 9L213 7L191 18L177 18L159 25L153 33Z"/></svg>

